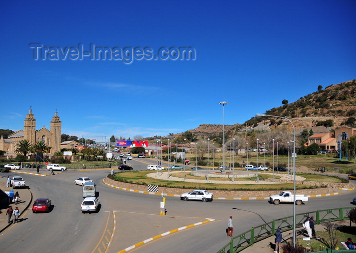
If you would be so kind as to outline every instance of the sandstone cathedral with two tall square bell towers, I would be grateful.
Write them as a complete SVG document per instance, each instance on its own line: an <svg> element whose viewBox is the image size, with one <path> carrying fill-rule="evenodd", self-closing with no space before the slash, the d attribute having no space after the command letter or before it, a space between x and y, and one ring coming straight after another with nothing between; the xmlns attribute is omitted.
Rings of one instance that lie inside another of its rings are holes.
<svg viewBox="0 0 356 253"><path fill-rule="evenodd" d="M4 139L3 136L0 137L0 150L5 151L7 156L15 156L16 144L22 139L27 139L31 145L42 141L49 148L49 154L53 154L61 150L61 129L62 122L55 112L49 130L44 126L36 130L35 115L32 114L32 109L29 109L24 120L23 130L14 132L7 139Z"/></svg>

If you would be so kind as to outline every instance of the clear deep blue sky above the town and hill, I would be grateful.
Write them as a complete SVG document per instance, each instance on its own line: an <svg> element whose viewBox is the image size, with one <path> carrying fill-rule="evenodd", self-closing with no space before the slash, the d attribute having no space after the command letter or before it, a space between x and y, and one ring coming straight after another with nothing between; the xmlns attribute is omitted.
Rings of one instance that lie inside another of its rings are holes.
<svg viewBox="0 0 356 253"><path fill-rule="evenodd" d="M244 123L356 78L356 2L2 1L0 128L166 136ZM195 49L195 60L34 60L43 47Z"/></svg>

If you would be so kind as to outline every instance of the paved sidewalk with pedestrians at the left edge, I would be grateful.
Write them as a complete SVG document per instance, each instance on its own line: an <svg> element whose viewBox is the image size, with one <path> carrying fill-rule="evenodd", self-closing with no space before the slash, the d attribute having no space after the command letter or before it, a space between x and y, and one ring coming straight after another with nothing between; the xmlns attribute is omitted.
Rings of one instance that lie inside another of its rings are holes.
<svg viewBox="0 0 356 253"><path fill-rule="evenodd" d="M13 210L15 210L15 207L18 207L20 211L19 222L21 222L22 213L26 211L27 208L31 207L33 201L32 193L28 188L20 188L20 189L19 188L13 189L12 187L7 188L6 178L7 178L7 174L2 173L2 176L0 177L0 190L3 191L4 194L5 191L10 191L10 190L14 190L14 192L18 191L21 201L17 205L15 205L15 203L9 204L7 196L2 195L0 201L0 232L3 232L6 228L15 225L12 223L8 224L8 216L6 215L6 211L9 208L9 205L12 206ZM13 220L13 217L14 215L11 216L11 220Z"/></svg>

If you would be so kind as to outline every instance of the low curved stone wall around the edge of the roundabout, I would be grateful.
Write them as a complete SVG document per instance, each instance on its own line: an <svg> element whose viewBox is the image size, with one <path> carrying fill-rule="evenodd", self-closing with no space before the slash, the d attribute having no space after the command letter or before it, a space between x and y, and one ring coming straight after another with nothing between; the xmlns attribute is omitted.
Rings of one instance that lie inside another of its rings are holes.
<svg viewBox="0 0 356 253"><path fill-rule="evenodd" d="M147 191L147 185L140 184L130 184L124 183L120 181L114 181L109 178L105 178L105 182L117 187ZM306 195L315 195L315 194L325 194L336 192L338 188L352 188L350 183L348 184L334 184L333 186L327 186L325 188L316 188L316 189L303 189L297 190L297 194L306 194ZM158 187L158 192L165 194L182 194L184 192L190 192L195 189L180 189L180 188L167 188L167 187ZM293 190L291 190L293 192ZM214 197L224 197L224 198L251 198L251 197L268 197L270 195L277 194L278 190L257 190L257 191L246 191L246 190L209 190L209 192L213 192ZM279 192L278 192L279 193Z"/></svg>

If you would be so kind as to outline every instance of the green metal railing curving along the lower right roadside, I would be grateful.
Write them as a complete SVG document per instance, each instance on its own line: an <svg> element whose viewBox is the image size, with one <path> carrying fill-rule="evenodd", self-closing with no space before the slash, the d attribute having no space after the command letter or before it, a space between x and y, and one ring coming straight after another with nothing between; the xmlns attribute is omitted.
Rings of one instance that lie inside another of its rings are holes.
<svg viewBox="0 0 356 253"><path fill-rule="evenodd" d="M312 211L307 213L296 214L295 227L296 228L302 227L303 221L308 216L309 217L314 216L316 224L329 222L329 221L348 220L349 218L347 217L347 211L353 208L354 207L340 207L335 209L317 210L317 211ZM281 232L285 232L293 229L293 216L275 219L271 222L264 223L238 236L235 236L231 239L231 241L228 244L226 244L222 249L220 249L218 253L240 252L241 250L253 245L255 242L273 236L276 233L277 229L280 229ZM324 250L324 251L318 251L318 253L319 252L320 253L327 253L327 252L343 253L343 250L337 250L337 251Z"/></svg>

